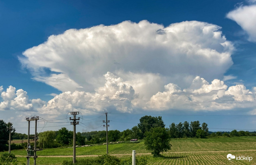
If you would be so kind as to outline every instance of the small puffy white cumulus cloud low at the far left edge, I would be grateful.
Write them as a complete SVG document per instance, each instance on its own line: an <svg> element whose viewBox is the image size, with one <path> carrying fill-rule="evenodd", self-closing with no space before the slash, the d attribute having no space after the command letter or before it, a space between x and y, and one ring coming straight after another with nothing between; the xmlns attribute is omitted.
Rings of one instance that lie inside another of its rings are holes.
<svg viewBox="0 0 256 165"><path fill-rule="evenodd" d="M28 99L27 92L19 89L16 92L16 88L9 86L6 92L1 93L3 102L0 103L0 110L16 110L16 111L36 111L37 108L41 108L45 102L41 99Z"/></svg>

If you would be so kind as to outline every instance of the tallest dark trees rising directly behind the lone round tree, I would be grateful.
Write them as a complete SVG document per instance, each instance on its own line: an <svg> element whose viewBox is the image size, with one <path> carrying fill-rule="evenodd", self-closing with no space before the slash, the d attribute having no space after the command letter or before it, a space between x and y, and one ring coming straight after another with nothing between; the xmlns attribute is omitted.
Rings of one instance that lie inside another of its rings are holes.
<svg viewBox="0 0 256 165"><path fill-rule="evenodd" d="M165 127L165 124L162 120L161 116L158 117L152 117L152 116L143 116L140 118L140 123L138 124L138 127L140 128L143 135L146 131L149 131L151 128L154 127Z"/></svg>

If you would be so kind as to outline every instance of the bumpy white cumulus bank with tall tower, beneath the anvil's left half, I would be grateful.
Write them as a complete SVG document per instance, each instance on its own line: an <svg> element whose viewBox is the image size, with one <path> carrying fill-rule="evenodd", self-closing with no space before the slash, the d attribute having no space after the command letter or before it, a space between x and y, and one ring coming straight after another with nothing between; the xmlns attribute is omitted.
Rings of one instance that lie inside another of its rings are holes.
<svg viewBox="0 0 256 165"><path fill-rule="evenodd" d="M132 103L136 95L132 86L108 72L104 75L105 85L97 92L84 91L63 92L50 100L40 110L41 114L61 114L70 111L84 113L103 112L107 108L114 108L121 112L131 112Z"/></svg>

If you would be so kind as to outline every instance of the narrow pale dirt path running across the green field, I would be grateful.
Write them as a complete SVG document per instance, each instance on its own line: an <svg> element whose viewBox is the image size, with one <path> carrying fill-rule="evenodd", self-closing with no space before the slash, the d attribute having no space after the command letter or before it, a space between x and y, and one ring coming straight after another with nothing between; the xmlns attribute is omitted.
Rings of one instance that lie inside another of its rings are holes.
<svg viewBox="0 0 256 165"><path fill-rule="evenodd" d="M167 152L167 153L217 153L217 152L239 152L239 151L256 151L256 150L229 150L229 151L184 151L184 152ZM151 153L136 153L137 155L148 155ZM124 153L124 154L109 154L113 156L118 155L132 155L131 153ZM17 157L26 157L21 155L15 155ZM101 155L76 155L76 157L95 157ZM39 157L73 157L73 155L58 155L58 156L39 156Z"/></svg>

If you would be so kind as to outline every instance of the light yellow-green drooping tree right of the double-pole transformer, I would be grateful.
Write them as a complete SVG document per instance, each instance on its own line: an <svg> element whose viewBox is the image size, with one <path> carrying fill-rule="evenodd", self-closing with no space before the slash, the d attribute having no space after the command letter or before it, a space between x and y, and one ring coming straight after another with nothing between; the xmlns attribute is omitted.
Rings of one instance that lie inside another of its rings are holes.
<svg viewBox="0 0 256 165"><path fill-rule="evenodd" d="M54 139L55 139L55 132L54 131L44 131L39 133L39 143L42 143L43 148L52 148Z"/></svg>

